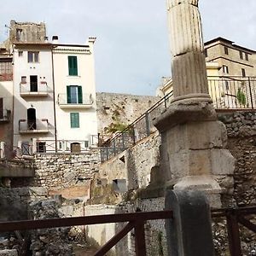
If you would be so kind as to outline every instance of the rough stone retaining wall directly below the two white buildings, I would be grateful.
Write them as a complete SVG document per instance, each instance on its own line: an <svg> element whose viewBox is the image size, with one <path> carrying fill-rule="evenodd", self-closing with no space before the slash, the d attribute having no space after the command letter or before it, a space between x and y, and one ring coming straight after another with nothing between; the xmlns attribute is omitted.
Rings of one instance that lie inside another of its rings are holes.
<svg viewBox="0 0 256 256"><path fill-rule="evenodd" d="M88 184L98 171L99 152L91 149L84 154L36 154L34 185L49 190ZM84 191L87 195L87 190Z"/></svg>

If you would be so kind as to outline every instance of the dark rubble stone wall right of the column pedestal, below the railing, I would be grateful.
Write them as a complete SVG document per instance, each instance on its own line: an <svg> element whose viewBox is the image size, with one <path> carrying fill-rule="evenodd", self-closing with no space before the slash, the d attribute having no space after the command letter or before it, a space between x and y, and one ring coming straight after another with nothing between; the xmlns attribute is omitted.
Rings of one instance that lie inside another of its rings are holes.
<svg viewBox="0 0 256 256"><path fill-rule="evenodd" d="M227 127L228 148L236 158L233 200L256 205L256 112L218 113Z"/></svg>

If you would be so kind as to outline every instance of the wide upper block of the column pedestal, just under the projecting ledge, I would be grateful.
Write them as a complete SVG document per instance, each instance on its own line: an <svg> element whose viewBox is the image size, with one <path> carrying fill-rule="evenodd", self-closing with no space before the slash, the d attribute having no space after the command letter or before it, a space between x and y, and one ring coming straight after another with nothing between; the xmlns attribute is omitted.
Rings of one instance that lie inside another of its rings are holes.
<svg viewBox="0 0 256 256"><path fill-rule="evenodd" d="M219 121L189 122L166 133L170 153L184 149L224 148L227 143L225 126Z"/></svg>

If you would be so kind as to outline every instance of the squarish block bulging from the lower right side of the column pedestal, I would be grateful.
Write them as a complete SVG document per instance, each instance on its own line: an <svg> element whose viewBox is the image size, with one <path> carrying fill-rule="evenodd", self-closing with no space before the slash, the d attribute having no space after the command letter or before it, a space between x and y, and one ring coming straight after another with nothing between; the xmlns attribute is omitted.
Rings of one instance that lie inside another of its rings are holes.
<svg viewBox="0 0 256 256"><path fill-rule="evenodd" d="M212 174L231 175L235 170L235 158L228 149L212 149Z"/></svg>

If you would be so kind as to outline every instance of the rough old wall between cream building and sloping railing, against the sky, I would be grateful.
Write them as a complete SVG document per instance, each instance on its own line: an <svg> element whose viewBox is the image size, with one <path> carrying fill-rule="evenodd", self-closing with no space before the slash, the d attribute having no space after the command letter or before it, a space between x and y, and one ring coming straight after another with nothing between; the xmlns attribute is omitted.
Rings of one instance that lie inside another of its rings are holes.
<svg viewBox="0 0 256 256"><path fill-rule="evenodd" d="M97 92L98 132L105 138L114 128L131 124L159 100L156 96Z"/></svg>

